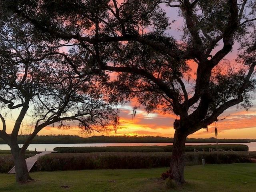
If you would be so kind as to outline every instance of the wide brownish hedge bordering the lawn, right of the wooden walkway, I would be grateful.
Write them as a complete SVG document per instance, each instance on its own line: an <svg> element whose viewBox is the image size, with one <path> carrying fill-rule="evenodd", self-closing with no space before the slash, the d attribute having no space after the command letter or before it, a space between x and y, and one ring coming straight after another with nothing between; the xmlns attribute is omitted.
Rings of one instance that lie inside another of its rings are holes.
<svg viewBox="0 0 256 192"><path fill-rule="evenodd" d="M34 170L84 170L84 169L140 169L168 167L170 152L157 153L80 153L80 154L48 154L38 159ZM250 162L248 156L235 153L186 152L186 165L229 164Z"/></svg>

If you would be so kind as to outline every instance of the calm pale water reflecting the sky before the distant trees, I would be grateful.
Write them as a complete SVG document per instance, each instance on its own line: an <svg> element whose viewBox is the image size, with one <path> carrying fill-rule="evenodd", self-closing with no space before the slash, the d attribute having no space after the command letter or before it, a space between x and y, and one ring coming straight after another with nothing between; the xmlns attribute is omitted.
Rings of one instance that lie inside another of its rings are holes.
<svg viewBox="0 0 256 192"><path fill-rule="evenodd" d="M205 145L214 143L186 143L186 145ZM249 151L256 151L256 142L250 143L219 143L219 144L244 144L249 147ZM172 143L77 143L77 144L30 144L29 150L48 151L53 150L55 147L106 147L106 146L165 146L172 145ZM22 145L20 145L21 147ZM10 150L7 144L0 144L0 150Z"/></svg>

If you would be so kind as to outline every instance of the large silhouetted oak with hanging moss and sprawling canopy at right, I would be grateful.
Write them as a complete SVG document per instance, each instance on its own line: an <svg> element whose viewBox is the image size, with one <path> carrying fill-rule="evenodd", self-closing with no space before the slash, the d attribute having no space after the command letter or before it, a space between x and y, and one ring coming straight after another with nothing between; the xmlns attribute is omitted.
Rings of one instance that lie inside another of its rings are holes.
<svg viewBox="0 0 256 192"><path fill-rule="evenodd" d="M186 137L231 106L251 106L245 96L255 88L255 0L4 2L2 18L25 20L34 35L72 46L70 56L79 61L89 52L96 61L93 70L116 72L110 83L120 100L136 97L147 111L179 116L170 164L177 183L185 182ZM166 11L174 9L184 19L182 41L167 33L173 18ZM239 64L225 65L234 42L241 46ZM189 78L191 63L195 78ZM236 96L226 97L230 94Z"/></svg>

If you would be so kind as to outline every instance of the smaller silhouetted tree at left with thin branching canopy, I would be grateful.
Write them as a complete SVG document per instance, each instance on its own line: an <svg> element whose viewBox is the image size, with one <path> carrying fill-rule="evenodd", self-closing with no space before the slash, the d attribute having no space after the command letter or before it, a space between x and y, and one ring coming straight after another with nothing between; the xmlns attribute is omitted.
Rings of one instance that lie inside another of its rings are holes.
<svg viewBox="0 0 256 192"><path fill-rule="evenodd" d="M118 121L118 111L102 94L103 90L106 92L100 82L104 74L99 77L99 73L91 75L86 70L86 64L92 62L90 56L85 55L81 63L73 62L75 56L68 58L58 52L60 47L34 38L30 29L22 21L8 19L0 26L0 138L11 148L17 182L31 180L24 153L46 126L77 125L83 132L91 133L107 130ZM78 74L75 66L80 70ZM11 127L6 124L6 117L12 111L18 117L8 134ZM34 122L34 130L19 147L17 136L25 120Z"/></svg>

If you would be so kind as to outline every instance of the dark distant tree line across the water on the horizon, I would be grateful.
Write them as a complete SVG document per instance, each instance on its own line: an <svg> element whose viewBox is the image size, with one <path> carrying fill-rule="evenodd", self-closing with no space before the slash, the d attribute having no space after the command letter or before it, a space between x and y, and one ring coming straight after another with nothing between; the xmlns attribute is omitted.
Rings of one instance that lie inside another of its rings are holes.
<svg viewBox="0 0 256 192"><path fill-rule="evenodd" d="M18 143L23 144L29 135L18 136ZM244 143L252 142L252 139L218 139L218 142L223 143ZM76 135L37 135L32 144L45 144L45 143L172 143L173 138L161 136L91 136L83 138ZM189 143L214 143L216 138L187 138L186 142ZM4 140L0 139L0 144L6 144Z"/></svg>

